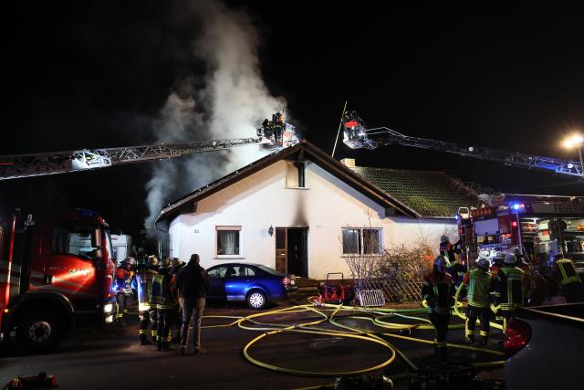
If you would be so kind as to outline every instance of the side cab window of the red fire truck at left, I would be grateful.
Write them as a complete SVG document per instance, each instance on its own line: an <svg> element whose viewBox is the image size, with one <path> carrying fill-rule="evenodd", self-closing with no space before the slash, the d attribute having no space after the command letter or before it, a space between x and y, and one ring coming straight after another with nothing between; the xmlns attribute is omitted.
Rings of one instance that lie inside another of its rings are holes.
<svg viewBox="0 0 584 390"><path fill-rule="evenodd" d="M91 236L96 233L94 227L55 227L51 240L52 255L75 255L93 258Z"/></svg>

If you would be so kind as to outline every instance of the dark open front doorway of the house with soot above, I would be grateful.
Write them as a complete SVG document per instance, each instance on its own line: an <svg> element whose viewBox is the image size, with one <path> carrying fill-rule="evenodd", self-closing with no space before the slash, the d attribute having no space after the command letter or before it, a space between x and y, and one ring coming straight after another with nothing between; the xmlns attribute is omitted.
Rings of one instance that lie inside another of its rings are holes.
<svg viewBox="0 0 584 390"><path fill-rule="evenodd" d="M276 227L276 270L308 278L308 227Z"/></svg>

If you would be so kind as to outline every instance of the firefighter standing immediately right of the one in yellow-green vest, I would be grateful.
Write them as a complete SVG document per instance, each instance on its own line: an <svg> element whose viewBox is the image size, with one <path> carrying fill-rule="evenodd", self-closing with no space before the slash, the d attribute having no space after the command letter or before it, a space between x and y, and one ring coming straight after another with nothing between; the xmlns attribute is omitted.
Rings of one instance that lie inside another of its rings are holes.
<svg viewBox="0 0 584 390"><path fill-rule="evenodd" d="M523 306L523 275L516 267L517 258L508 253L495 278L495 312L503 317L503 332L507 322L515 314L516 308Z"/></svg>

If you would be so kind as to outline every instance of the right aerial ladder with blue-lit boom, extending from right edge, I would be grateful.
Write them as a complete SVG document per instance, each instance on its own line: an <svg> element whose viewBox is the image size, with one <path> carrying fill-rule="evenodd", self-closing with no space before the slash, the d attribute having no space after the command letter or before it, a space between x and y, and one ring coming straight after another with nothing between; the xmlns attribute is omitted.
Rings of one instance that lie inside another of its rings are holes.
<svg viewBox="0 0 584 390"><path fill-rule="evenodd" d="M395 132L387 127L366 129L363 121L355 111L347 112L343 119L343 142L351 149L376 149L385 145L413 146L437 152L455 153L466 157L504 163L527 169L538 169L555 174L577 176L582 179L582 164L574 161L560 160L555 157L537 156L526 153L512 153L481 146L461 143L429 140L411 137Z"/></svg>

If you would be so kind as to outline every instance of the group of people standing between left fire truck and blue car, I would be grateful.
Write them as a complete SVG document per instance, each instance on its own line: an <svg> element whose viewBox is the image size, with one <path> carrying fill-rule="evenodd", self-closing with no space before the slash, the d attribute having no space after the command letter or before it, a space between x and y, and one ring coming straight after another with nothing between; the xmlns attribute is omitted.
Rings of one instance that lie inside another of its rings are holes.
<svg viewBox="0 0 584 390"><path fill-rule="evenodd" d="M203 275L201 284L204 285L203 290L208 290L210 279L206 271L198 265L198 255L193 255L191 262L197 270L203 270L200 272ZM189 321L183 316L183 305L180 304L182 302L179 299L180 288L177 287L177 276L185 265L186 263L179 258L159 260L154 255L149 256L145 264L141 266L137 265L134 258L125 258L120 262L116 271L118 303L116 321L120 326L125 326L124 316L130 313L129 300L135 297L138 301L141 345L153 344L157 346L158 351L169 351L172 342L180 342L181 353L185 353ZM204 298L202 306L204 306ZM200 322L203 307L199 308L199 313L195 316L197 323L193 323L194 353L203 353L200 348ZM149 332L151 337L149 337Z"/></svg>

